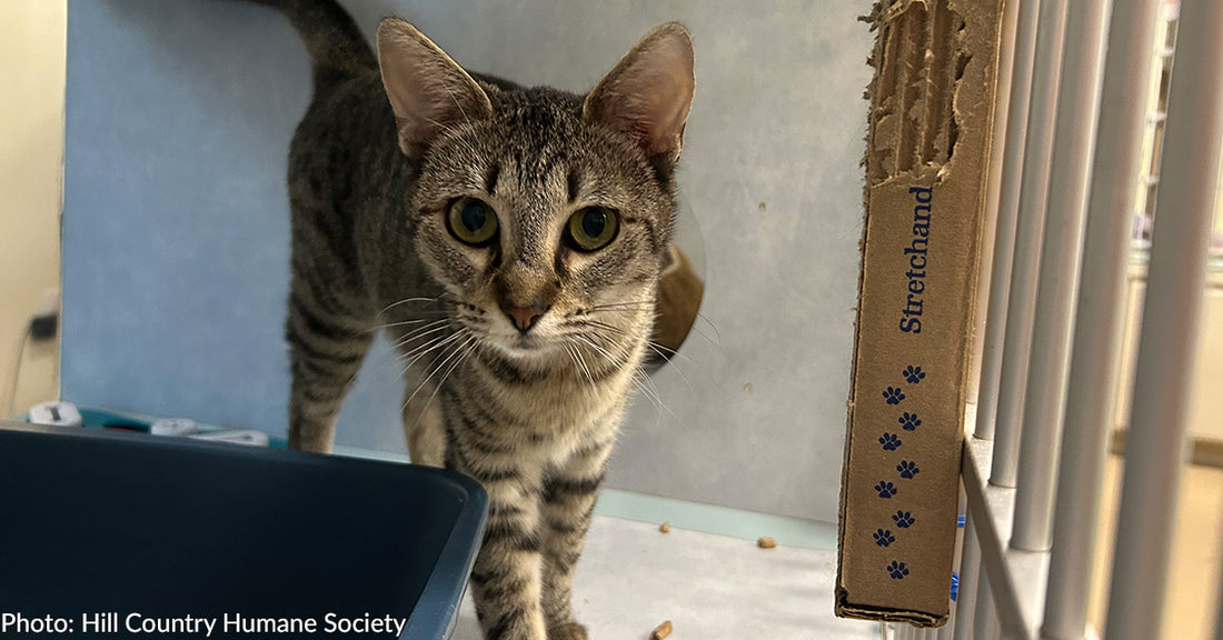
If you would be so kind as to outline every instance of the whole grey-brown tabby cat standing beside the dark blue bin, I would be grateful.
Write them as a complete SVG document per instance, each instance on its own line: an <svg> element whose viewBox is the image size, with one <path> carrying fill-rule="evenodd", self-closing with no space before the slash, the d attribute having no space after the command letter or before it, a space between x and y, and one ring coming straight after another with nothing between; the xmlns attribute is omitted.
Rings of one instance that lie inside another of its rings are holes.
<svg viewBox="0 0 1223 640"><path fill-rule="evenodd" d="M327 452L372 336L406 363L415 462L488 490L486 638L585 639L574 569L648 347L692 101L678 24L587 95L464 71L401 20L264 0L313 60L289 158L290 445Z"/></svg>

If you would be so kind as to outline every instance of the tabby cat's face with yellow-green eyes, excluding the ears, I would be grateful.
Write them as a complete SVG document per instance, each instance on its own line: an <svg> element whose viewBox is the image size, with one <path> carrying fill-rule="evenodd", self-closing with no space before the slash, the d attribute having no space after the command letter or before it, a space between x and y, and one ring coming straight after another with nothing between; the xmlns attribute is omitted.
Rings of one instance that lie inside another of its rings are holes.
<svg viewBox="0 0 1223 640"><path fill-rule="evenodd" d="M416 252L454 319L509 357L616 358L649 332L675 204L669 177L582 121L581 99L499 94L423 159Z"/></svg>

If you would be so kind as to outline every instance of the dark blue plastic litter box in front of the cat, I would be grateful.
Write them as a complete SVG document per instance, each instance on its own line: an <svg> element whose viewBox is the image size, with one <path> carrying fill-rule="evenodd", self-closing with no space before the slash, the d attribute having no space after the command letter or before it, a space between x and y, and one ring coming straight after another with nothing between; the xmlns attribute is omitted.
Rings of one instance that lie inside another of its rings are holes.
<svg viewBox="0 0 1223 640"><path fill-rule="evenodd" d="M487 504L440 469L0 423L0 611L73 635L114 619L108 638L203 638L127 628L190 616L212 638L393 638L344 633L390 617L446 639ZM316 630L225 634L226 616Z"/></svg>

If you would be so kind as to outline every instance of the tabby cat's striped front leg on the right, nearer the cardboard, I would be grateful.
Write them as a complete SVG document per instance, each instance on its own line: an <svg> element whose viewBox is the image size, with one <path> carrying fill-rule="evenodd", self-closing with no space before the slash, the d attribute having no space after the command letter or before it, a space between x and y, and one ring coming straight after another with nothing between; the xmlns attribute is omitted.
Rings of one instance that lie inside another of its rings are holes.
<svg viewBox="0 0 1223 640"><path fill-rule="evenodd" d="M548 640L587 638L586 628L574 619L574 573L610 453L610 442L589 445L544 480L543 613Z"/></svg>

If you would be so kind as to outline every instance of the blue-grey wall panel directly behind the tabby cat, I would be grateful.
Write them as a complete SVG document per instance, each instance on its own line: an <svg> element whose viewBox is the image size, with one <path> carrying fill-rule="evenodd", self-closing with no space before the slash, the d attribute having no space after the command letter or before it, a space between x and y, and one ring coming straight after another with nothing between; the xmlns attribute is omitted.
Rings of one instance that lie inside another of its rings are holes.
<svg viewBox="0 0 1223 640"><path fill-rule="evenodd" d="M460 64L586 90L681 20L697 96L680 170L703 320L638 398L613 486L834 520L861 233L868 0L349 1L412 20ZM285 155L305 49L238 0L71 0L62 395L283 434ZM342 445L404 451L385 343Z"/></svg>

